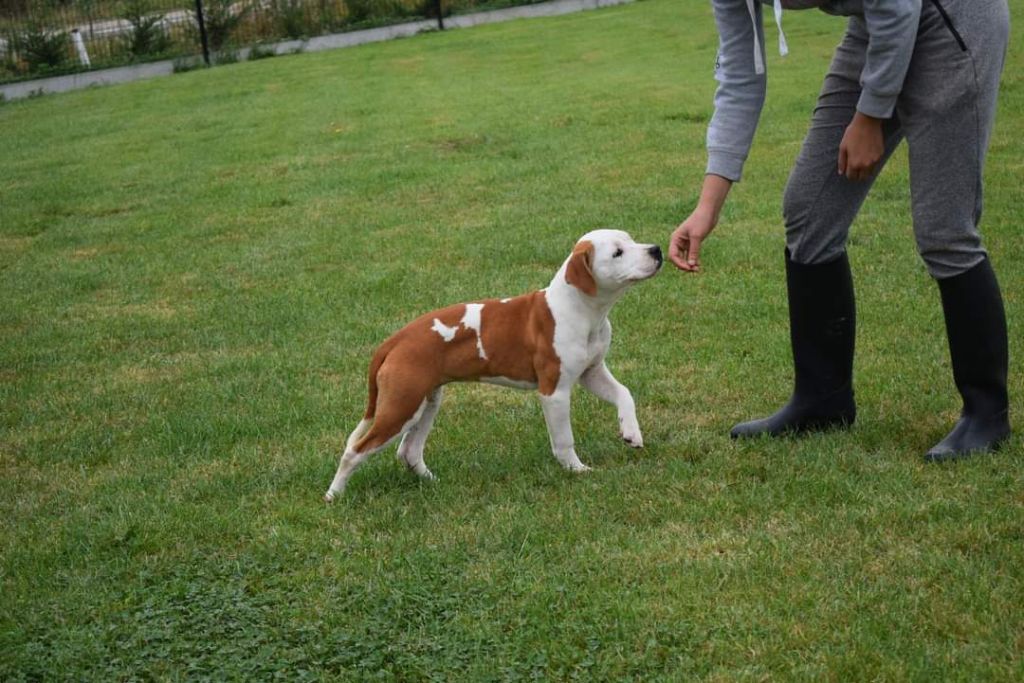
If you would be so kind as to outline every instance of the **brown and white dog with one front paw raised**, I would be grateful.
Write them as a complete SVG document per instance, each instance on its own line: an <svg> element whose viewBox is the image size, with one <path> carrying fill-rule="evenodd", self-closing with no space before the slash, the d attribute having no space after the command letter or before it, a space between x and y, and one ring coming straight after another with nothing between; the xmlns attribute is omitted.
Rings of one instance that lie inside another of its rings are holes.
<svg viewBox="0 0 1024 683"><path fill-rule="evenodd" d="M401 436L398 458L433 478L423 446L449 382L488 382L541 394L551 450L567 470L580 462L569 424L569 394L580 382L618 410L627 443L643 446L630 390L604 364L611 342L608 310L634 283L662 267L662 250L622 230L583 236L547 289L511 299L483 299L426 313L377 349L370 364L367 412L345 443L324 499L345 489L352 471Z"/></svg>

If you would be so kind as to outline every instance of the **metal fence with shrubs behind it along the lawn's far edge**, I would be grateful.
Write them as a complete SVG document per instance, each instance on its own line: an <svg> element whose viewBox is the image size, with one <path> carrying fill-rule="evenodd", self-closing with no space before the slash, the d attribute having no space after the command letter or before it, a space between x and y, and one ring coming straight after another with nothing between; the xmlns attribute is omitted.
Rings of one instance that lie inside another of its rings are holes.
<svg viewBox="0 0 1024 683"><path fill-rule="evenodd" d="M543 1L0 0L0 83Z"/></svg>

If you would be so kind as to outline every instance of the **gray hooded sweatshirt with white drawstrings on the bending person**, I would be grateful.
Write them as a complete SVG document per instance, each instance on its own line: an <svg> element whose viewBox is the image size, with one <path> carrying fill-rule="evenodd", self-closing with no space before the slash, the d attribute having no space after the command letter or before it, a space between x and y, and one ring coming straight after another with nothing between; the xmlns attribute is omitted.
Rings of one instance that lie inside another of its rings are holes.
<svg viewBox="0 0 1024 683"><path fill-rule="evenodd" d="M739 180L761 118L767 77L762 4L773 5L779 26L782 9L817 7L829 14L857 16L866 28L867 55L860 76L857 111L879 119L892 117L913 53L922 0L712 0L718 27L715 63L718 90L708 126L708 173Z"/></svg>

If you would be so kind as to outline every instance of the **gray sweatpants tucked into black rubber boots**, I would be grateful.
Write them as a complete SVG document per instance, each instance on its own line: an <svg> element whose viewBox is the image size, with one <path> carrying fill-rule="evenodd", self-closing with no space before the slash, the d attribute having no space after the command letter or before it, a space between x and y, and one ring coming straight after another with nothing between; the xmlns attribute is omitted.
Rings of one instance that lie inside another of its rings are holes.
<svg viewBox="0 0 1024 683"><path fill-rule="evenodd" d="M982 170L1009 33L1007 0L923 0L903 90L883 127L883 164L906 138L913 232L936 279L958 275L985 258L978 232ZM860 96L866 48L864 22L851 17L786 184L785 240L798 263L842 255L873 181L851 181L837 172L839 145Z"/></svg>

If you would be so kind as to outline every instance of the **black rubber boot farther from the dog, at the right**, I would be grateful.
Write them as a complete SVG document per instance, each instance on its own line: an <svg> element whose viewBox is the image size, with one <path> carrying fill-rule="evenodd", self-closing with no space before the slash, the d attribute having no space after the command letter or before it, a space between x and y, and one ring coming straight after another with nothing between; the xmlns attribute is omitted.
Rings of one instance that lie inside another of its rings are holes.
<svg viewBox="0 0 1024 683"><path fill-rule="evenodd" d="M986 258L940 280L939 292L964 410L953 430L925 456L931 462L992 453L1010 436L1007 317L991 264Z"/></svg>

